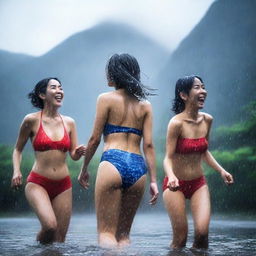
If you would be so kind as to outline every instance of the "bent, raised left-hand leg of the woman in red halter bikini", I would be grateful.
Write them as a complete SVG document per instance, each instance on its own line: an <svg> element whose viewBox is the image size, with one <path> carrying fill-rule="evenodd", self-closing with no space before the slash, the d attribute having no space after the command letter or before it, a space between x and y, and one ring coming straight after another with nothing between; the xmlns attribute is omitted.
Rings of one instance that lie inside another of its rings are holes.
<svg viewBox="0 0 256 256"><path fill-rule="evenodd" d="M42 186L29 182L25 187L25 195L42 226L37 240L43 244L54 242L57 221L48 193Z"/></svg>

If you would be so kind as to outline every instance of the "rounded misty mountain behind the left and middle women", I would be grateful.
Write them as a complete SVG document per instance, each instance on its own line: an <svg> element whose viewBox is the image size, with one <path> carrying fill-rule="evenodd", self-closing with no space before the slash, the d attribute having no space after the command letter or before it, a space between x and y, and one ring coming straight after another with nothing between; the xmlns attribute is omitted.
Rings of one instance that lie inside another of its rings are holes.
<svg viewBox="0 0 256 256"><path fill-rule="evenodd" d="M1 52L1 68L6 61L12 72L7 76L7 69L0 76L0 143L15 142L22 118L36 111L26 95L36 82L48 76L62 81L65 100L60 111L76 120L79 140L84 143L92 129L98 94L111 90L105 78L106 62L112 54L124 52L137 58L146 85L152 85L152 77L170 54L132 27L115 23L102 23L77 33L40 57Z"/></svg>

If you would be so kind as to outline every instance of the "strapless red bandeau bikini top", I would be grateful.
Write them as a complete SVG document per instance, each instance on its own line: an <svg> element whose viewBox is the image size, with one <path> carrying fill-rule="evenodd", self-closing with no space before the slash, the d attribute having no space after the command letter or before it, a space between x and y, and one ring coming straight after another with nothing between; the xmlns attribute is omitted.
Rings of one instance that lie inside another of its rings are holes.
<svg viewBox="0 0 256 256"><path fill-rule="evenodd" d="M179 138L175 152L178 154L204 153L207 149L208 141L206 138Z"/></svg>

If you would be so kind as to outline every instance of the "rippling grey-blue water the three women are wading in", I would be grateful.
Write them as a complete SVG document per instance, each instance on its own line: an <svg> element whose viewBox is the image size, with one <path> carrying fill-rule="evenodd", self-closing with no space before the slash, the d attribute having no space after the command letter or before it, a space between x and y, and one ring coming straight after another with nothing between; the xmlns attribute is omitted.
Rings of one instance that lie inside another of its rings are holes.
<svg viewBox="0 0 256 256"><path fill-rule="evenodd" d="M50 246L35 241L39 230L33 218L0 219L0 255L14 256L212 256L254 255L256 251L256 221L221 220L212 218L208 250L190 249L193 225L189 221L187 247L171 250L171 226L167 214L138 214L131 232L132 245L119 250L105 250L97 246L95 215L73 216L66 243Z"/></svg>

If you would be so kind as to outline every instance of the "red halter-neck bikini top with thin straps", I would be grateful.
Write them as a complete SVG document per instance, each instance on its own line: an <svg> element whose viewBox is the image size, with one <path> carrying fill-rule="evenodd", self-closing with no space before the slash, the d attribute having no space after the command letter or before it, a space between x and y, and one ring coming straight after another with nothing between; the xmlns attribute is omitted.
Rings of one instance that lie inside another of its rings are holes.
<svg viewBox="0 0 256 256"><path fill-rule="evenodd" d="M43 111L41 112L39 129L32 143L34 150L35 151L61 150L63 152L68 151L70 149L70 138L65 129L61 115L60 115L60 118L62 120L62 124L64 128L64 136L61 140L58 140L58 141L51 140L51 138L49 138L45 133L42 125L42 115L43 115Z"/></svg>

